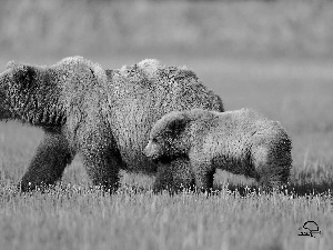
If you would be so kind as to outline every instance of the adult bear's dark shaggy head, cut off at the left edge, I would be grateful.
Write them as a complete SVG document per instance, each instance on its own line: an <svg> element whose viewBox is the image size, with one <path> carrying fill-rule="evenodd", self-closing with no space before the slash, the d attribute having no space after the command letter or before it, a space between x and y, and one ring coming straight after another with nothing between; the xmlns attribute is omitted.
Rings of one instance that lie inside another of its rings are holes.
<svg viewBox="0 0 333 250"><path fill-rule="evenodd" d="M52 127L62 120L60 89L44 67L10 61L0 74L0 120Z"/></svg>

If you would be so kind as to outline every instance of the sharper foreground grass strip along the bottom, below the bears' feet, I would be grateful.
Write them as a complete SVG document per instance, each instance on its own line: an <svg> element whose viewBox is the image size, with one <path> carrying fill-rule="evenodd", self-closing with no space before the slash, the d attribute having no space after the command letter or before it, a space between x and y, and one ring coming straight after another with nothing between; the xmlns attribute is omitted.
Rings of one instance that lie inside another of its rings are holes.
<svg viewBox="0 0 333 250"><path fill-rule="evenodd" d="M0 196L1 249L331 249L330 197L132 191L65 187ZM300 237L307 220L322 234Z"/></svg>

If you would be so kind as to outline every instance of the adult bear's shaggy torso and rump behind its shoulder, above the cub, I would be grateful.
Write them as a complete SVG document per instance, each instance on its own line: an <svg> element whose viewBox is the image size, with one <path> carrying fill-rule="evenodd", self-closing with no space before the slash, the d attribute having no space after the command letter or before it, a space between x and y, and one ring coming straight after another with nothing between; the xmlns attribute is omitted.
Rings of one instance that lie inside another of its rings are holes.
<svg viewBox="0 0 333 250"><path fill-rule="evenodd" d="M132 171L154 171L142 150L153 123L164 114L191 108L223 111L221 99L186 69L147 59L107 74L114 137Z"/></svg>

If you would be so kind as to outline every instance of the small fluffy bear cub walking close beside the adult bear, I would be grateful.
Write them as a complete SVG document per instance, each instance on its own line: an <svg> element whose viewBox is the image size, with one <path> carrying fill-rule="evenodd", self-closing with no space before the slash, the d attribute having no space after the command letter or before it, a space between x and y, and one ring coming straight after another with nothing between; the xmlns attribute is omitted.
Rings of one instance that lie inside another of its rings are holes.
<svg viewBox="0 0 333 250"><path fill-rule="evenodd" d="M213 188L216 169L255 178L265 188L278 187L287 181L292 164L284 128L251 109L171 112L153 126L144 153L170 168L169 174L175 167L165 162L188 158L190 167L183 162L179 168L184 172L191 168L196 187L203 190Z"/></svg>

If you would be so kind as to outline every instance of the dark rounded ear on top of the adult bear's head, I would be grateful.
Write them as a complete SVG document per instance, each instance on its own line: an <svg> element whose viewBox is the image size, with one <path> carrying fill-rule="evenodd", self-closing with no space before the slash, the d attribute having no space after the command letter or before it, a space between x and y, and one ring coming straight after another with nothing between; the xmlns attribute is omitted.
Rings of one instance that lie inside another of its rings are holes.
<svg viewBox="0 0 333 250"><path fill-rule="evenodd" d="M13 81L22 89L29 89L37 79L37 70L31 66L16 63L12 66Z"/></svg>

